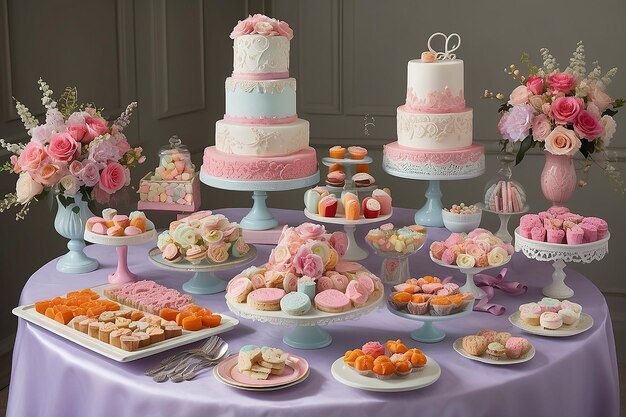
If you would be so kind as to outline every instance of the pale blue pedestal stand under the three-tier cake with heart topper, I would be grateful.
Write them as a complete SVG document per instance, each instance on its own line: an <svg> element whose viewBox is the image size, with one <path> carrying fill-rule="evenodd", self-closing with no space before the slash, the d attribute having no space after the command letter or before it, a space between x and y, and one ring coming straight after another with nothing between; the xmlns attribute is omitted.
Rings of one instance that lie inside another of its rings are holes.
<svg viewBox="0 0 626 417"><path fill-rule="evenodd" d="M444 175L441 173L437 175L429 175L397 171L390 169L384 164L383 170L387 174L393 175L394 177L429 181L428 189L424 194L426 196L426 204L424 204L424 206L415 213L415 223L431 227L443 227L443 218L441 216L441 210L443 209L441 197L443 194L441 193L440 181L466 180L479 177L485 172L485 168L483 167L482 169L478 169L474 172L461 175Z"/></svg>

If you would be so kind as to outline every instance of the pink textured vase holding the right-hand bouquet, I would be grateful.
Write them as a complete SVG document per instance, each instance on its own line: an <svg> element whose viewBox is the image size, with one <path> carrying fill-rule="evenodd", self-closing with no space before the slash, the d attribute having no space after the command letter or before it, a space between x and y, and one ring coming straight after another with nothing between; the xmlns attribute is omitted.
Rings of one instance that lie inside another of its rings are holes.
<svg viewBox="0 0 626 417"><path fill-rule="evenodd" d="M541 172L541 191L553 206L564 206L576 189L576 170L569 155L546 152L546 164Z"/></svg>

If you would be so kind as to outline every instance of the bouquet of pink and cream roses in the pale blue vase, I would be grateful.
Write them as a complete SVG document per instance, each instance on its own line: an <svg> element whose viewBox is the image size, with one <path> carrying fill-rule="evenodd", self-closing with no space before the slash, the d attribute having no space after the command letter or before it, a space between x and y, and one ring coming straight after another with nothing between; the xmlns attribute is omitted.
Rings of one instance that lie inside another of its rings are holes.
<svg viewBox="0 0 626 417"><path fill-rule="evenodd" d="M38 83L46 122L39 124L28 108L15 100L31 139L26 144L0 139L0 147L13 154L0 171L19 175L15 192L0 200L0 212L21 205L16 218L23 219L30 203L50 191L59 193L63 205L77 193L88 201L107 203L112 194L130 184L129 169L145 160L142 149L131 148L122 133L137 103L130 103L109 126L102 109L78 104L75 87L67 87L55 100L50 86L42 79Z"/></svg>

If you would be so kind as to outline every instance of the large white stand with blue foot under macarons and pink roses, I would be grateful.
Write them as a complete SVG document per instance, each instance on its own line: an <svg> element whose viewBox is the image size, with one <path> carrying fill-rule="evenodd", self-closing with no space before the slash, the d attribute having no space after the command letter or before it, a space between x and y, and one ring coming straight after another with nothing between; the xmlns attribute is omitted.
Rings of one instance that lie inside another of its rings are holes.
<svg viewBox="0 0 626 417"><path fill-rule="evenodd" d="M343 313L326 313L311 307L308 313L302 316L290 316L282 311L261 311L250 307L247 303L235 303L226 300L230 311L244 319L269 323L276 326L295 326L283 337L283 342L295 349L321 349L333 341L331 335L320 326L338 321L355 320L377 309L384 294L360 308L344 311Z"/></svg>

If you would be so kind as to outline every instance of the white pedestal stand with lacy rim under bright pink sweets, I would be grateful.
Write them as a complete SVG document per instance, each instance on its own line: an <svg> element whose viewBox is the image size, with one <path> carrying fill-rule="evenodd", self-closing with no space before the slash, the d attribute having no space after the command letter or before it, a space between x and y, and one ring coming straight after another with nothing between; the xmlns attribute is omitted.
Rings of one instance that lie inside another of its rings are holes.
<svg viewBox="0 0 626 417"><path fill-rule="evenodd" d="M565 285L566 274L563 270L567 263L591 263L600 261L609 253L608 233L604 239L597 242L583 243L581 245L564 245L559 243L538 242L526 239L519 234L519 228L515 229L515 251L522 252L529 259L543 262L553 262L554 272L552 283L543 288L543 295L552 298L570 298L574 290Z"/></svg>

